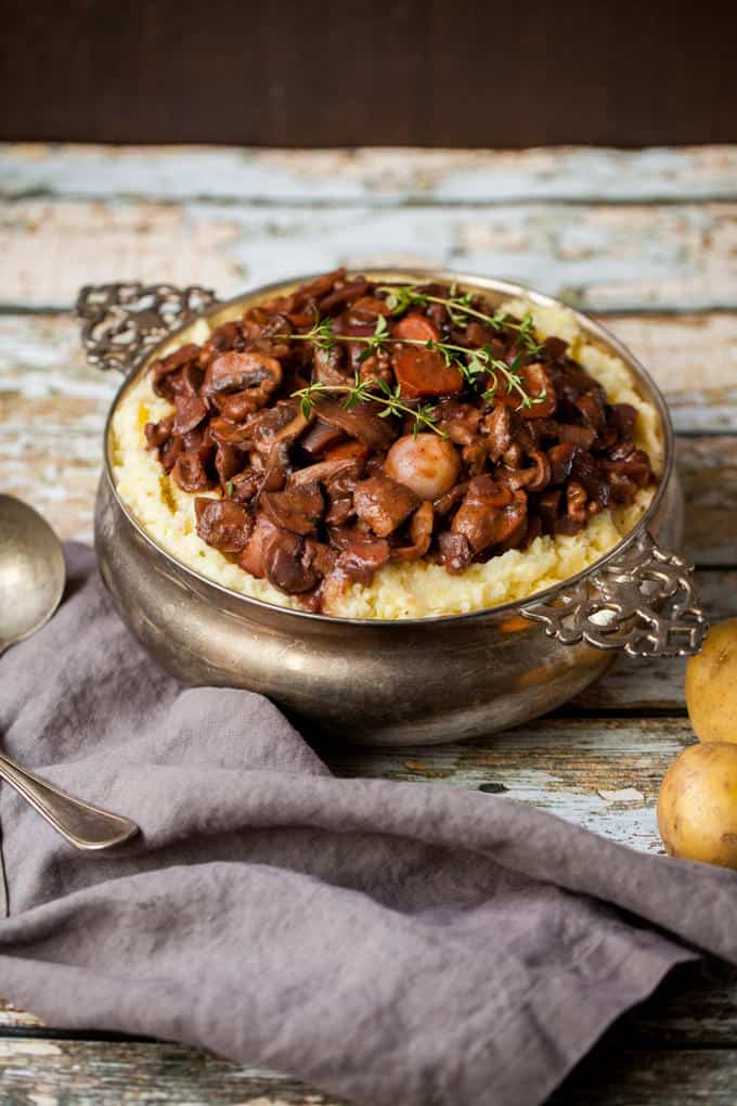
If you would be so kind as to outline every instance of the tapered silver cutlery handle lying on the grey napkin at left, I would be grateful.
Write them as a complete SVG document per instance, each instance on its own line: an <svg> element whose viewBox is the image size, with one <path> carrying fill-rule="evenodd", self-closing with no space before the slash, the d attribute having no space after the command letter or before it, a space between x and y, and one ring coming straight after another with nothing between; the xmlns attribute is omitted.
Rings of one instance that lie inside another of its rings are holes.
<svg viewBox="0 0 737 1106"><path fill-rule="evenodd" d="M130 818L73 799L1 753L0 778L77 848L110 848L138 833L138 826Z"/></svg>

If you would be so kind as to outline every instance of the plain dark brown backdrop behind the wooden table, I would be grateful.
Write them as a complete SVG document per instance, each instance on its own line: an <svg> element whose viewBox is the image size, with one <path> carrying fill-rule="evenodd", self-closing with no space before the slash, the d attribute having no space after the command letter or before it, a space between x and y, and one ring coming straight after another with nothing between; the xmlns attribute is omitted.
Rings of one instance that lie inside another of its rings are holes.
<svg viewBox="0 0 737 1106"><path fill-rule="evenodd" d="M0 138L737 140L737 0L6 0Z"/></svg>

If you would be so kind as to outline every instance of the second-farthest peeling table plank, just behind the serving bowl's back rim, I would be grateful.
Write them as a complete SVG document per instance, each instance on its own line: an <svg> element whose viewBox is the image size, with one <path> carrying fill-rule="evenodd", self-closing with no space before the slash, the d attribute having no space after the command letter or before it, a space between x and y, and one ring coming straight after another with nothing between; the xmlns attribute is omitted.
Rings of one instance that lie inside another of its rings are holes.
<svg viewBox="0 0 737 1106"><path fill-rule="evenodd" d="M0 304L69 306L116 279L223 295L336 264L449 264L591 311L737 306L737 204L264 208L25 199L0 208ZM43 264L40 264L43 259Z"/></svg>

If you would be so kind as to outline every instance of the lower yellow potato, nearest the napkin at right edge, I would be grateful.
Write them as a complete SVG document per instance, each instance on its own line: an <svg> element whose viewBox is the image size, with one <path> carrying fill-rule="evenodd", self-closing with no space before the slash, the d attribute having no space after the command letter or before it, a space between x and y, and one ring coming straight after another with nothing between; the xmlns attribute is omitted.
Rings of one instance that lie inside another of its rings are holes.
<svg viewBox="0 0 737 1106"><path fill-rule="evenodd" d="M671 856L737 869L737 744L681 753L661 784L657 826Z"/></svg>

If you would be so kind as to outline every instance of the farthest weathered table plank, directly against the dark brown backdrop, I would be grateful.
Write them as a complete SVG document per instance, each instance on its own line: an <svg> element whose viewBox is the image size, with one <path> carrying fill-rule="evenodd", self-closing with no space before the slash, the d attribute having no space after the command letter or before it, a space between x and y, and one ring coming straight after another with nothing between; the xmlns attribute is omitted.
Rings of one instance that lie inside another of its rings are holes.
<svg viewBox="0 0 737 1106"><path fill-rule="evenodd" d="M265 206L737 199L737 146L257 149L0 145L0 195Z"/></svg>

